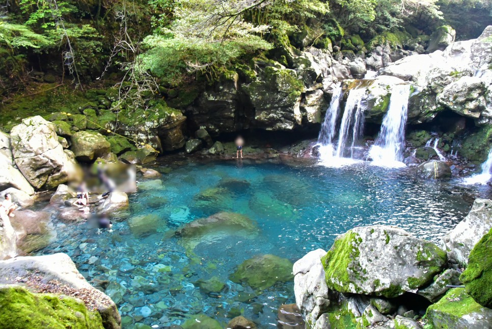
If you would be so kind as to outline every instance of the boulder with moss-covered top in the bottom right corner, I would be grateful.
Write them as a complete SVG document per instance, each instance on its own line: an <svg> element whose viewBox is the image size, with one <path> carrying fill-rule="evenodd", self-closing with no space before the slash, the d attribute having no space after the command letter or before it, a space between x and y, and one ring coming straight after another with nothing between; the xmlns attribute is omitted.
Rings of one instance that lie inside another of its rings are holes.
<svg viewBox="0 0 492 329"><path fill-rule="evenodd" d="M483 329L492 326L492 310L480 306L463 288L449 290L427 309L436 329Z"/></svg>

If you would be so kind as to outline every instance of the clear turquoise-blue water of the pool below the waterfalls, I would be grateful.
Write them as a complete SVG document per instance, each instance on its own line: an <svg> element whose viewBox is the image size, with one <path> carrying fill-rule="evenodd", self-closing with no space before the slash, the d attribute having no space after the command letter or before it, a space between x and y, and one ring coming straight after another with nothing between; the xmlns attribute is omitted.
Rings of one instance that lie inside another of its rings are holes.
<svg viewBox="0 0 492 329"><path fill-rule="evenodd" d="M470 209L449 183L415 179L406 169L365 164L294 168L271 163L182 163L161 181L160 187L156 184L160 182L142 181L146 190L130 196L132 216L158 216L155 233L135 235L126 218L115 222L113 232L102 233L86 223L54 220L57 241L41 251L66 252L91 284L105 288L109 283L106 293L117 302L125 328L139 327L138 323L181 324L198 313L224 324L243 314L261 328L276 327L279 306L294 302L293 283L278 283L241 302L240 293L255 292L228 277L244 260L273 254L295 262L312 249L329 249L338 234L358 225L398 225L437 242ZM221 189L213 202L197 199L217 186ZM258 235L205 239L188 257L174 231L219 211L248 216L257 223ZM195 286L211 276L226 283L214 296Z"/></svg>

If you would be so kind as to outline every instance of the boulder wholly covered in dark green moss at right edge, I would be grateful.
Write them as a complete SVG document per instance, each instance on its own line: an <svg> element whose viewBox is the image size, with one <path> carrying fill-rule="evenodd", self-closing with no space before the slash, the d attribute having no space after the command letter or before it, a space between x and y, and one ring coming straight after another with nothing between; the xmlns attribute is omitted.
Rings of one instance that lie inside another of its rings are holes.
<svg viewBox="0 0 492 329"><path fill-rule="evenodd" d="M492 308L492 230L472 249L468 267L459 279L476 302Z"/></svg>

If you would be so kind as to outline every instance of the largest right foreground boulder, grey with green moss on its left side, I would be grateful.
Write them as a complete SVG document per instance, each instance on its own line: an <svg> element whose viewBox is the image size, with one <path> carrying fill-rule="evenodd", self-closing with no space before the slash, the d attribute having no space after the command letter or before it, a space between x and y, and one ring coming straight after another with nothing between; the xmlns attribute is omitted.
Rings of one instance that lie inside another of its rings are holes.
<svg viewBox="0 0 492 329"><path fill-rule="evenodd" d="M447 257L432 242L374 225L339 235L321 261L329 288L391 298L428 285Z"/></svg>

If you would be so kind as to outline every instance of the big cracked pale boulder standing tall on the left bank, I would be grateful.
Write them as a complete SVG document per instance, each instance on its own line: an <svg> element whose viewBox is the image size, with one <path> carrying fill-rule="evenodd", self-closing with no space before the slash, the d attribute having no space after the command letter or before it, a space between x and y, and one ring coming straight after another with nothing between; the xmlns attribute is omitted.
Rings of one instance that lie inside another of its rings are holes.
<svg viewBox="0 0 492 329"><path fill-rule="evenodd" d="M73 153L63 149L55 131L40 116L25 118L11 130L15 164L37 189L55 188L78 174Z"/></svg>

